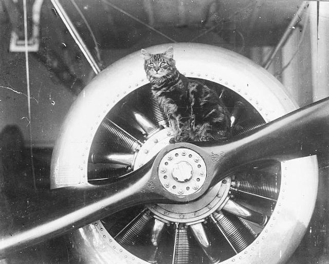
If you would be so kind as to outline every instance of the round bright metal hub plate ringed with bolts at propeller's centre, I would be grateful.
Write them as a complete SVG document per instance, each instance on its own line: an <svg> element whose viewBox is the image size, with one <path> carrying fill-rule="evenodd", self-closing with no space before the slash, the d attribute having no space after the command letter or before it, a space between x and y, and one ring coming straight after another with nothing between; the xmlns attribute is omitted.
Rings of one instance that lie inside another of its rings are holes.
<svg viewBox="0 0 329 264"><path fill-rule="evenodd" d="M159 180L166 191L177 196L188 196L202 188L207 167L203 158L189 148L170 150L160 161Z"/></svg>

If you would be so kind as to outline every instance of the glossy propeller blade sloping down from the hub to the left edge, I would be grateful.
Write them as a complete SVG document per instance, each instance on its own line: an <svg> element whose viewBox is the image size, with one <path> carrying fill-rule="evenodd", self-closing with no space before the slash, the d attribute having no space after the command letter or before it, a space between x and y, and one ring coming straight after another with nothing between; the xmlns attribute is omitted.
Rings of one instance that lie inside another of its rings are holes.
<svg viewBox="0 0 329 264"><path fill-rule="evenodd" d="M24 193L2 192L0 256L58 236L137 204L168 202L152 184L154 159L118 182ZM151 185L150 185L151 184ZM9 206L8 206L9 205Z"/></svg>

